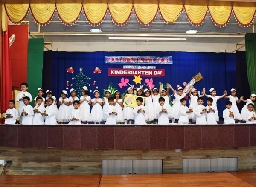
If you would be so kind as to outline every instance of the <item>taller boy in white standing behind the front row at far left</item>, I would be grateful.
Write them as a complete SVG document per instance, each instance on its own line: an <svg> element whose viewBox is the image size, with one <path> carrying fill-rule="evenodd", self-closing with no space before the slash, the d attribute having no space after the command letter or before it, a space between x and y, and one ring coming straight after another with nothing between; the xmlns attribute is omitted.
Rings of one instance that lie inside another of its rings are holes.
<svg viewBox="0 0 256 187"><path fill-rule="evenodd" d="M21 92L19 92L17 97L16 97L16 101L19 102L19 108L18 108L19 115L21 114L21 110L22 110L23 106L25 106L24 102L23 102L23 98L25 96L28 96L29 101L32 101L31 94L29 92L27 92L28 84L26 82L22 82L20 84L20 90L21 90ZM22 124L22 116L20 116L20 124Z"/></svg>

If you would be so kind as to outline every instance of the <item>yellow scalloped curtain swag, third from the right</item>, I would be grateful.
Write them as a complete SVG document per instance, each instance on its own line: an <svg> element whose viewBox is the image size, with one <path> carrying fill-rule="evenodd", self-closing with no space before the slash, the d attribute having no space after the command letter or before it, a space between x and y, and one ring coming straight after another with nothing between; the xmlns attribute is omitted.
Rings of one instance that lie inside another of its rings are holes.
<svg viewBox="0 0 256 187"><path fill-rule="evenodd" d="M196 25L201 24L207 13L207 6L184 5L189 20Z"/></svg>

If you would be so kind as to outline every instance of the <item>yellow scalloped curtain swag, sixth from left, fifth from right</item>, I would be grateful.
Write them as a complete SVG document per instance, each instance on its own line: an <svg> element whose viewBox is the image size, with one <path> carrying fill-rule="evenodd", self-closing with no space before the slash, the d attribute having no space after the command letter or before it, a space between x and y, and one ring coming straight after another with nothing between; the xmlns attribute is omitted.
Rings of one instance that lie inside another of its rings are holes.
<svg viewBox="0 0 256 187"><path fill-rule="evenodd" d="M157 4L134 4L134 11L138 20L143 24L149 24L157 16Z"/></svg>

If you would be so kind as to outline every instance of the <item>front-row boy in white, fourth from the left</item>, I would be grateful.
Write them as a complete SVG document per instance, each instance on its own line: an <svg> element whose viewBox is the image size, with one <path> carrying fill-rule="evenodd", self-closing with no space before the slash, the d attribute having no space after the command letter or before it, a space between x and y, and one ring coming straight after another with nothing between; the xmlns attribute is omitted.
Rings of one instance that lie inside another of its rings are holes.
<svg viewBox="0 0 256 187"><path fill-rule="evenodd" d="M47 107L42 113L42 115L45 116L45 125L57 125L56 118L55 118L55 106L53 102L54 102L53 98L51 97L48 98Z"/></svg>

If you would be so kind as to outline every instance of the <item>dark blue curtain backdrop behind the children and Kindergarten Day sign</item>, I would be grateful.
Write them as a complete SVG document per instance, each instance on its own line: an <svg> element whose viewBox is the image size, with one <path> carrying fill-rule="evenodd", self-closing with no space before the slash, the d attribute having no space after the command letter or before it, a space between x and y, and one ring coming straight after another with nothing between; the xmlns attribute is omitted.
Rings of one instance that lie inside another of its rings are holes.
<svg viewBox="0 0 256 187"><path fill-rule="evenodd" d="M195 88L202 90L206 88L209 94L210 88L215 88L217 96L221 96L224 90L227 90L228 95L230 89L236 85L236 54L230 53L206 53L206 52L157 52L157 51L116 51L116 52L58 52L47 51L44 54L44 76L43 88L51 89L56 96L60 97L61 90L68 88L68 93L71 86L75 82L74 78L79 69L82 68L82 73L90 79L86 82L90 84L89 89L94 91L96 86L103 95L103 89L107 89L108 85L113 82L113 87L117 88L121 93L128 88L119 88L118 83L120 77L109 77L108 68L123 68L123 65L130 64L105 64L104 56L172 56L173 64L155 65L157 69L165 69L165 77L153 77L154 85L158 87L158 82L163 84L170 83L174 88L183 85L183 82L189 82L192 76L201 72L204 77L200 82L195 83ZM73 70L70 69L72 67ZM95 68L101 69L101 73L93 73ZM70 71L70 72L67 72ZM74 71L71 73L71 71ZM143 80L141 85L145 83L145 79L151 77L140 76ZM135 87L132 80L134 76L124 77L129 79L129 83ZM68 84L67 84L67 81ZM95 81L95 85L93 82ZM69 85L69 86L67 86ZM144 85L143 88L146 88ZM75 88L76 89L76 88ZM78 90L80 92L80 90ZM170 93L172 94L172 93ZM70 93L69 93L70 96ZM90 96L93 98L93 94ZM204 99L205 101L206 99ZM206 105L206 102L204 103ZM225 108L225 99L218 101L218 110L222 111ZM222 116L222 112L219 113Z"/></svg>

